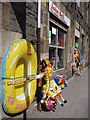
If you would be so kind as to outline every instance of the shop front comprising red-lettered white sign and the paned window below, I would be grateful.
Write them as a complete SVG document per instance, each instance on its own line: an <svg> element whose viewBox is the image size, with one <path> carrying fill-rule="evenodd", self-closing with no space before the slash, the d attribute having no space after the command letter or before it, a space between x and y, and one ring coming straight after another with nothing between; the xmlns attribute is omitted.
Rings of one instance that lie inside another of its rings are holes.
<svg viewBox="0 0 90 120"><path fill-rule="evenodd" d="M49 1L49 60L53 72L65 70L66 34L70 19Z"/></svg>

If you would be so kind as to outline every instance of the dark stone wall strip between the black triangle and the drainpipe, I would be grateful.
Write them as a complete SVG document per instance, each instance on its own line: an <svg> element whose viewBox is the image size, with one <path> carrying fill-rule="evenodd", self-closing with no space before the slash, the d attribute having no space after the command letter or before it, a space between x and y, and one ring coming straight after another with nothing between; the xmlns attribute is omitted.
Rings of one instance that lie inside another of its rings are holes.
<svg viewBox="0 0 90 120"><path fill-rule="evenodd" d="M37 41L37 2L26 3L26 39Z"/></svg>

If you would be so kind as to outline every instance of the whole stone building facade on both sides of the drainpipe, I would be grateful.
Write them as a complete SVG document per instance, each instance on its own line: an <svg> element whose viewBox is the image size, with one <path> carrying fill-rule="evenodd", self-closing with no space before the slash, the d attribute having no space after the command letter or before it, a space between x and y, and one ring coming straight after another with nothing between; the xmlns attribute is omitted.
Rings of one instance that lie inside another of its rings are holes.
<svg viewBox="0 0 90 120"><path fill-rule="evenodd" d="M0 60L9 43L17 37L33 41L37 51L38 3L0 3L2 9L2 39ZM17 7L18 6L18 7ZM21 11L19 11L20 9ZM75 43L88 65L89 3L43 2L41 4L40 59L47 58L56 74L72 75Z"/></svg>

